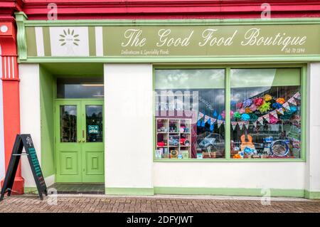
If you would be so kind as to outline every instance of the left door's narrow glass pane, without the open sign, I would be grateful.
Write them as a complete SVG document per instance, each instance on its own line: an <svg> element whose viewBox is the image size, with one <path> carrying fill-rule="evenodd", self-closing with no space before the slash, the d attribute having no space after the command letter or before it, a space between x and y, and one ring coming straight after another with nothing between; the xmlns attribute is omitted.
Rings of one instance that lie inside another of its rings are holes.
<svg viewBox="0 0 320 227"><path fill-rule="evenodd" d="M60 105L60 142L77 142L76 105Z"/></svg>

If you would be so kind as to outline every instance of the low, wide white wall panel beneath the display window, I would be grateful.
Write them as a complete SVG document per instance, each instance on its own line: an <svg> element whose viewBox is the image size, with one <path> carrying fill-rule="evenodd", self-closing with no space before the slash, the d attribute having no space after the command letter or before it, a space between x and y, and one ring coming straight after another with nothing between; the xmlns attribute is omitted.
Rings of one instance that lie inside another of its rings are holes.
<svg viewBox="0 0 320 227"><path fill-rule="evenodd" d="M304 189L304 163L156 162L154 186Z"/></svg>

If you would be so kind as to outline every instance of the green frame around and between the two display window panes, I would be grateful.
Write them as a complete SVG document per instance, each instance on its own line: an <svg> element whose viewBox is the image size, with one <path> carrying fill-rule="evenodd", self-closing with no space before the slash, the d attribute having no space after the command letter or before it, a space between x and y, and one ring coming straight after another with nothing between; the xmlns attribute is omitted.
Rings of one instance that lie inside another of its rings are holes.
<svg viewBox="0 0 320 227"><path fill-rule="evenodd" d="M300 159L233 159L230 157L230 127L225 127L225 158L220 159L156 159L156 116L155 99L152 102L152 131L153 131L153 151L154 162L306 162L306 63L293 64L243 64L243 65L153 65L152 70L152 90L156 88L156 70L161 69L224 69L225 70L225 125L230 125L230 69L232 68L300 68L300 88L301 88L301 158Z"/></svg>

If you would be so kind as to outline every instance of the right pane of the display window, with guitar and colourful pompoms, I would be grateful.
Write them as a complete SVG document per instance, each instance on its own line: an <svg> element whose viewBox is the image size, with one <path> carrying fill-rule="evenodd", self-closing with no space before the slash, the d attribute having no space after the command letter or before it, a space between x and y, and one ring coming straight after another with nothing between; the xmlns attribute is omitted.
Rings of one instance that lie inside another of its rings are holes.
<svg viewBox="0 0 320 227"><path fill-rule="evenodd" d="M230 158L300 159L300 68L230 70Z"/></svg>

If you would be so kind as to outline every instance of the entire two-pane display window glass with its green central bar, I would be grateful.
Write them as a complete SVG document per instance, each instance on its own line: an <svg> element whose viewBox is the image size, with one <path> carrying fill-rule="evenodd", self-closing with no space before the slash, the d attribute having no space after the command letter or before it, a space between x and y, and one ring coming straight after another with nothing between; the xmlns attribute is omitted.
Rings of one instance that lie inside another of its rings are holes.
<svg viewBox="0 0 320 227"><path fill-rule="evenodd" d="M155 68L154 158L303 159L302 81L302 68Z"/></svg>

